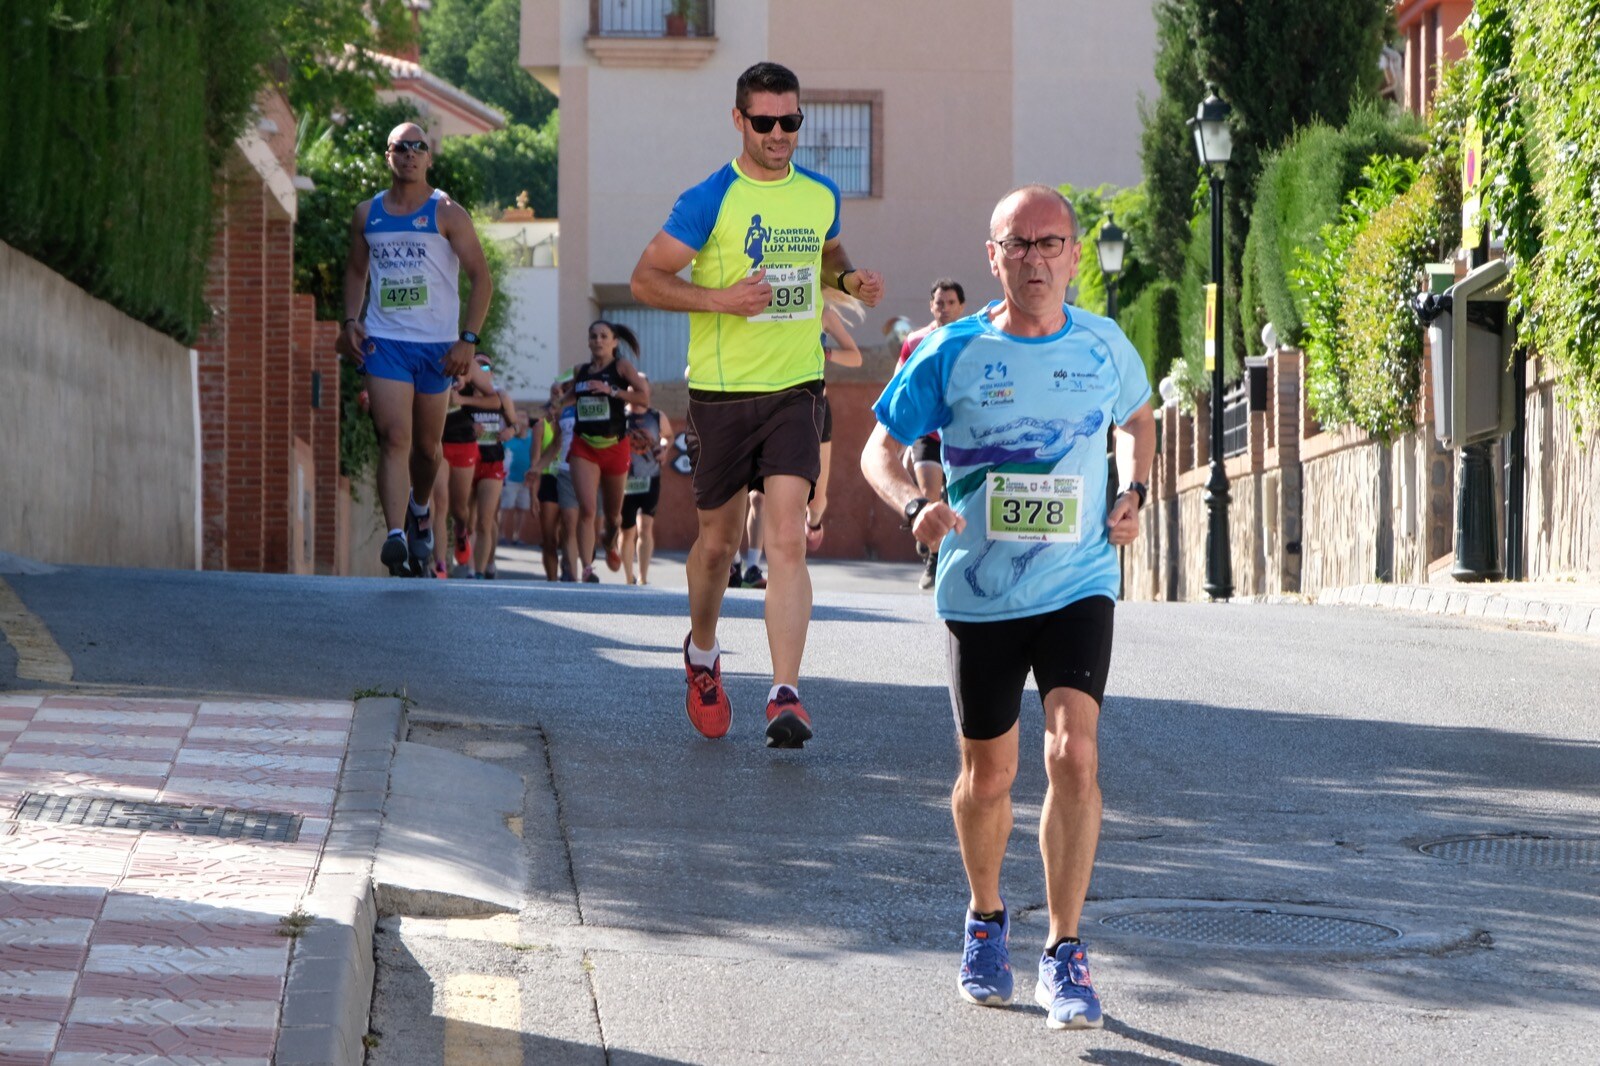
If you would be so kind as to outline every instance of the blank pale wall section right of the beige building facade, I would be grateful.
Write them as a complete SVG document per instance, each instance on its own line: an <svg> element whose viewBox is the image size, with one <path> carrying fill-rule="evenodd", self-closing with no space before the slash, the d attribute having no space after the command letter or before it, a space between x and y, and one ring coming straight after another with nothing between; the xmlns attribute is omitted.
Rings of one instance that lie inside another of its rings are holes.
<svg viewBox="0 0 1600 1066"><path fill-rule="evenodd" d="M1013 13L1016 182L1138 184L1139 93L1157 96L1154 3L1013 0Z"/></svg>

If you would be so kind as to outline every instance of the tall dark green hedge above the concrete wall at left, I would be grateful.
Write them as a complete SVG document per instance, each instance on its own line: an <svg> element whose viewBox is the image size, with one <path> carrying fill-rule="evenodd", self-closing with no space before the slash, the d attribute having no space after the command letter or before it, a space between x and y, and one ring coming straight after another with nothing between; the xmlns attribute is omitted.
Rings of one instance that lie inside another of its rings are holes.
<svg viewBox="0 0 1600 1066"><path fill-rule="evenodd" d="M211 178L250 115L269 5L0 5L0 238L192 341L206 319Z"/></svg>

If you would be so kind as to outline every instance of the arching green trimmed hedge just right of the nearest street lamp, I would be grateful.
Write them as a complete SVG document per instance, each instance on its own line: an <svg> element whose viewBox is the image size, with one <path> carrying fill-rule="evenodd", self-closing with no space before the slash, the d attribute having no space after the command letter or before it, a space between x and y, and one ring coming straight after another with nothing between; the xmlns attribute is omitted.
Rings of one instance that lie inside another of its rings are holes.
<svg viewBox="0 0 1600 1066"><path fill-rule="evenodd" d="M1322 227L1339 216L1362 166L1374 155L1419 158L1422 126L1410 115L1378 106L1357 107L1342 128L1304 126L1261 171L1245 240L1242 317L1253 343L1270 322L1283 344L1301 344L1306 312L1290 285L1296 250L1312 246Z"/></svg>

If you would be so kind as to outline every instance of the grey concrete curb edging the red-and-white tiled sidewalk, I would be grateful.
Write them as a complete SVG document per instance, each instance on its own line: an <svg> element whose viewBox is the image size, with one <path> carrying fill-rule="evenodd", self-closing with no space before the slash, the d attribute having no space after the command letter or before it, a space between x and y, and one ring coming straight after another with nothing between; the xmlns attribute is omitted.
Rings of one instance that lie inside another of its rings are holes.
<svg viewBox="0 0 1600 1066"><path fill-rule="evenodd" d="M306 898L315 920L294 940L275 1066L362 1066L373 1007L373 856L405 703L357 699L328 844Z"/></svg>

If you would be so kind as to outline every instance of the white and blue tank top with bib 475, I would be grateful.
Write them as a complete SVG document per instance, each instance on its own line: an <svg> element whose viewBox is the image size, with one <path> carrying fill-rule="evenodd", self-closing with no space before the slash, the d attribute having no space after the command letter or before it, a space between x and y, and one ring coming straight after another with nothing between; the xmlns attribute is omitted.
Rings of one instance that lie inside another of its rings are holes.
<svg viewBox="0 0 1600 1066"><path fill-rule="evenodd" d="M392 341L454 341L461 331L461 261L438 232L443 192L413 214L390 214L384 194L366 214L366 333Z"/></svg>

